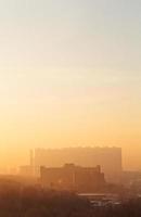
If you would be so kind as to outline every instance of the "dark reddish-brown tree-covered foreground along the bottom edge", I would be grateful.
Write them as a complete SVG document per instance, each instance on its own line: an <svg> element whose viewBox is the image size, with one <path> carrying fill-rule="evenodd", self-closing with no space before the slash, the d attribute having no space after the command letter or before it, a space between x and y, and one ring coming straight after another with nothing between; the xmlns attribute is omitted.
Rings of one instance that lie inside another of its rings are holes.
<svg viewBox="0 0 141 217"><path fill-rule="evenodd" d="M75 193L4 182L0 183L0 217L141 217L141 200L93 208Z"/></svg>

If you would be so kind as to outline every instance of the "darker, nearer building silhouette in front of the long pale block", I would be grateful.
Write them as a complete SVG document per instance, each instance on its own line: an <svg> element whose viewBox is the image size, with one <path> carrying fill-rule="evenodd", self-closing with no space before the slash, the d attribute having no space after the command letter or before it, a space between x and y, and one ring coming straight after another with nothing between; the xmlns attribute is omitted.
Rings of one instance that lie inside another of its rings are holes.
<svg viewBox="0 0 141 217"><path fill-rule="evenodd" d="M100 166L81 167L65 164L63 167L41 167L42 184L53 189L97 192L105 186L104 174Z"/></svg>

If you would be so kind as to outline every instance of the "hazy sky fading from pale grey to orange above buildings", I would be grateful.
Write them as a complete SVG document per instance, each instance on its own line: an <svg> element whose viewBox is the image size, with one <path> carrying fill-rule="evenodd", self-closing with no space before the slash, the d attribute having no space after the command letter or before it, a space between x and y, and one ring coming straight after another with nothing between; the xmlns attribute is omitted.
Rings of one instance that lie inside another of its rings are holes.
<svg viewBox="0 0 141 217"><path fill-rule="evenodd" d="M1 165L95 144L141 168L140 59L140 0L0 0Z"/></svg>

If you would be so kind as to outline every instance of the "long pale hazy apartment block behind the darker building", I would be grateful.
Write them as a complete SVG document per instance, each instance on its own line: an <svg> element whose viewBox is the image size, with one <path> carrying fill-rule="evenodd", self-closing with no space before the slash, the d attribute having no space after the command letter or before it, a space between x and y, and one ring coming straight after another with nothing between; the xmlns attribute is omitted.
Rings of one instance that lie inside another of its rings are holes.
<svg viewBox="0 0 141 217"><path fill-rule="evenodd" d="M40 166L61 167L67 162L84 167L100 165L106 181L120 182L123 171L120 148L36 149L33 164L36 174L39 174Z"/></svg>

